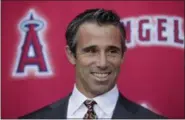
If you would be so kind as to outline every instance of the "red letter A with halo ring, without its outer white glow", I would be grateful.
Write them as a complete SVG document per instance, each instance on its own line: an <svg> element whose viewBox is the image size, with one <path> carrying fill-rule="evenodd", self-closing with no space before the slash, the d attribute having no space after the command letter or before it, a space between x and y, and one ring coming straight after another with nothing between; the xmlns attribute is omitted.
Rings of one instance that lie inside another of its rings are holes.
<svg viewBox="0 0 185 120"><path fill-rule="evenodd" d="M47 59L45 59L43 54L43 45L38 36L38 31L42 29L43 26L43 22L34 20L32 15L30 20L26 20L21 24L21 29L26 32L26 36L21 46L20 59L15 71L16 74L24 74L27 72L25 71L26 68L33 67L38 68L36 71L37 74L48 73L50 71L46 64Z"/></svg>

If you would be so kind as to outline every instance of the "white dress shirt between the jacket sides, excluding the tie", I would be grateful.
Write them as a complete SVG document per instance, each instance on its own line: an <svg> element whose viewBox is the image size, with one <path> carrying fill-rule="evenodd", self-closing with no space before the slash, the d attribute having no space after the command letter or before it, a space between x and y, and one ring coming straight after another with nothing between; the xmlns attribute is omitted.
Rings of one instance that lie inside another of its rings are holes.
<svg viewBox="0 0 185 120"><path fill-rule="evenodd" d="M83 104L85 100L94 100L94 111L98 118L111 119L118 100L119 92L117 85L113 89L95 98L87 98L74 85L72 95L69 98L67 118L83 118L87 107Z"/></svg>

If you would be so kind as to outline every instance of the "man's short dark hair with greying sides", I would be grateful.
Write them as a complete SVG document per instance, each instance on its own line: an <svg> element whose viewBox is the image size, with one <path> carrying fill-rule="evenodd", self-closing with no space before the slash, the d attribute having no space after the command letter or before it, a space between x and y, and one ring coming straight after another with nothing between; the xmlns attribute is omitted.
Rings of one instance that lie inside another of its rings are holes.
<svg viewBox="0 0 185 120"><path fill-rule="evenodd" d="M121 44L122 52L126 51L126 32L123 24L120 22L120 17L112 10L105 10L102 8L87 9L83 13L77 15L68 25L66 30L66 40L71 52L76 55L76 34L80 27L85 22L97 22L99 25L112 24L120 29L122 34Z"/></svg>

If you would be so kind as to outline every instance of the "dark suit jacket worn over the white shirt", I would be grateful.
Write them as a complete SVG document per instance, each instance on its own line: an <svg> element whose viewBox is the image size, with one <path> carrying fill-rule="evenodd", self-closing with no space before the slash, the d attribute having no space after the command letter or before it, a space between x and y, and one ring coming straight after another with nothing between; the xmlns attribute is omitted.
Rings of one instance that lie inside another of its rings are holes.
<svg viewBox="0 0 185 120"><path fill-rule="evenodd" d="M22 116L20 119L66 119L69 97L70 95L33 113ZM128 100L120 93L112 119L121 118L161 119L164 117Z"/></svg>

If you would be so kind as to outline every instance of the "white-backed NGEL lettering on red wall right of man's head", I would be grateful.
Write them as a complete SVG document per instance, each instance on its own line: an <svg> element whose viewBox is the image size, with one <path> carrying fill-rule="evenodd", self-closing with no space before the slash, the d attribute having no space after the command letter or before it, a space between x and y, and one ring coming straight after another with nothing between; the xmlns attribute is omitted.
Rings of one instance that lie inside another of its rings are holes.
<svg viewBox="0 0 185 120"><path fill-rule="evenodd" d="M178 16L155 15L124 18L127 47L168 46L184 49L184 19Z"/></svg>

